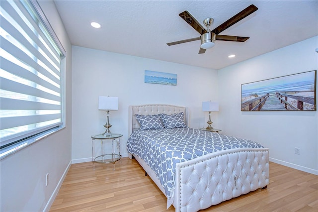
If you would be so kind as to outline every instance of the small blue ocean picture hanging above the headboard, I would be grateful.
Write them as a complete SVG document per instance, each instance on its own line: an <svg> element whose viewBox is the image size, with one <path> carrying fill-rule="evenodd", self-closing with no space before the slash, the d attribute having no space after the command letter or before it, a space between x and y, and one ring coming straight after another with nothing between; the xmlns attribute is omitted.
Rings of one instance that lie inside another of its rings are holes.
<svg viewBox="0 0 318 212"><path fill-rule="evenodd" d="M163 85L177 85L177 75L145 70L145 83L155 83Z"/></svg>

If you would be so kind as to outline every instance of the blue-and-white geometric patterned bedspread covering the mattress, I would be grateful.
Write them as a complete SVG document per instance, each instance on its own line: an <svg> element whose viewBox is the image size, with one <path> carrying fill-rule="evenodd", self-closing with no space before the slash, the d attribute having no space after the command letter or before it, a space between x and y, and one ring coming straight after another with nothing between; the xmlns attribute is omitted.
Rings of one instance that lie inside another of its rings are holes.
<svg viewBox="0 0 318 212"><path fill-rule="evenodd" d="M127 151L144 159L156 172L168 202L173 198L176 163L243 147L264 148L254 141L188 127L136 130L127 142Z"/></svg>

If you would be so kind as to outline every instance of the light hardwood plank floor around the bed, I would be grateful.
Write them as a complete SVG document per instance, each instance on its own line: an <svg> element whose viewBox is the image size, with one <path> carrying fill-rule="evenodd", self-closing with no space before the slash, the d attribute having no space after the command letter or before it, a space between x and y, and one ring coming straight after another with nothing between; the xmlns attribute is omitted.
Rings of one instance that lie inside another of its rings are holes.
<svg viewBox="0 0 318 212"><path fill-rule="evenodd" d="M51 212L161 212L166 198L138 162L72 164ZM270 163L270 184L204 212L318 212L318 176Z"/></svg>

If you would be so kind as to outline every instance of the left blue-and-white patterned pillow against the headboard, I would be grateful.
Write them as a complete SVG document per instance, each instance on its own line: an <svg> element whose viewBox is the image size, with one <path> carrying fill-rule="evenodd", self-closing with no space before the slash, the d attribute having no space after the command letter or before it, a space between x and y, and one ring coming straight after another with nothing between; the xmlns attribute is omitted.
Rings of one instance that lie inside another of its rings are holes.
<svg viewBox="0 0 318 212"><path fill-rule="evenodd" d="M140 123L140 129L163 129L160 115L139 115L136 119Z"/></svg>

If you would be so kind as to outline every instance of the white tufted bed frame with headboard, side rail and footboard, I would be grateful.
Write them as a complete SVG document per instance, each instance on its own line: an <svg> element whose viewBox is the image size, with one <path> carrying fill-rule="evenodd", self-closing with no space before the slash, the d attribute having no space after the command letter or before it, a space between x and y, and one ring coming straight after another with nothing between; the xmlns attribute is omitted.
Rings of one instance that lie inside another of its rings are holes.
<svg viewBox="0 0 318 212"><path fill-rule="evenodd" d="M173 114L184 112L188 124L186 107L172 105L129 106L129 135L140 128L135 114ZM136 155L133 155L146 173L159 187L156 173ZM132 156L130 156L132 158ZM237 148L218 151L177 163L175 168L173 206L176 212L196 212L242 194L247 194L269 184L268 148ZM167 206L170 204L168 203Z"/></svg>

